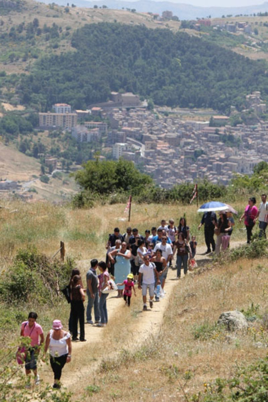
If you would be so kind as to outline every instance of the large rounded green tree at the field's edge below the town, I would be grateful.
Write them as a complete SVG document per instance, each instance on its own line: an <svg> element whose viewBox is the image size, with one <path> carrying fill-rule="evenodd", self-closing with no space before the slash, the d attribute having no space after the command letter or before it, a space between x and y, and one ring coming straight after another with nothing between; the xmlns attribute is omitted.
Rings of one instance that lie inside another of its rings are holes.
<svg viewBox="0 0 268 402"><path fill-rule="evenodd" d="M99 194L110 194L115 191L127 191L133 195L153 184L153 179L140 173L133 162L89 160L83 170L73 174L77 183L85 190Z"/></svg>

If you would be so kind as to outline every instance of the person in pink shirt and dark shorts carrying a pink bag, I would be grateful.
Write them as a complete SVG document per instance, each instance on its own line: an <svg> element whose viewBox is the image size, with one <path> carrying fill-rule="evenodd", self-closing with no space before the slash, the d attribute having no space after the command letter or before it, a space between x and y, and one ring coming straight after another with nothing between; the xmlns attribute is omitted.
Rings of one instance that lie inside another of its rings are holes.
<svg viewBox="0 0 268 402"><path fill-rule="evenodd" d="M44 342L44 334L41 325L37 320L37 313L34 311L28 315L28 321L24 321L20 327L20 336L28 337L31 339L30 347L28 347L25 359L25 372L27 376L27 388L30 388L31 384L31 370L35 375L35 384L39 385L40 379L37 373L37 357L40 350L40 346ZM39 339L40 338L40 339Z"/></svg>

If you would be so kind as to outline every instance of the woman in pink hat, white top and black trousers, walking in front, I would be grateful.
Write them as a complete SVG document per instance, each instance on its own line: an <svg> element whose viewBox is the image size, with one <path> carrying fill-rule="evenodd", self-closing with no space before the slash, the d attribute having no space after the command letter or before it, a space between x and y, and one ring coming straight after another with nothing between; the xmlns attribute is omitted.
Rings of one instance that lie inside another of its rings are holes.
<svg viewBox="0 0 268 402"><path fill-rule="evenodd" d="M65 363L70 363L72 357L71 334L62 329L60 320L53 321L52 329L47 334L44 353L48 348L50 364L54 372L53 388L60 388L61 371Z"/></svg>

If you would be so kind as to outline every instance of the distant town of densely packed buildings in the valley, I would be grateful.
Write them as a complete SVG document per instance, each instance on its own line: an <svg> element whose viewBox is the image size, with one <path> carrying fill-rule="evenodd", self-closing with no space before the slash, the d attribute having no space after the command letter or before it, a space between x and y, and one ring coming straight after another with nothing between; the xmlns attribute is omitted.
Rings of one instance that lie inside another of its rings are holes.
<svg viewBox="0 0 268 402"><path fill-rule="evenodd" d="M257 115L266 112L259 92L247 96L247 106ZM111 148L114 159L134 161L163 188L198 178L228 184L234 173L250 175L260 161L268 162L268 122L259 119L255 125L231 127L230 117L211 115L218 125L211 127L211 119L199 121L197 112L185 111L193 119L184 120L175 109L148 110L147 102L137 95L112 93L111 100L86 111L72 112L70 105L55 104L53 113L39 113L39 126L69 129L79 142L103 138L103 146ZM233 108L231 114L235 113ZM88 115L97 115L101 121L77 123ZM235 145L221 141L225 134L232 134ZM56 166L57 159L53 160ZM52 160L47 158L47 163Z"/></svg>

